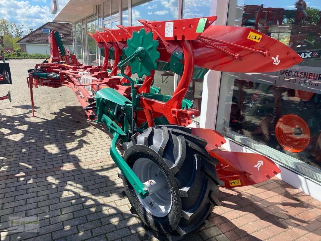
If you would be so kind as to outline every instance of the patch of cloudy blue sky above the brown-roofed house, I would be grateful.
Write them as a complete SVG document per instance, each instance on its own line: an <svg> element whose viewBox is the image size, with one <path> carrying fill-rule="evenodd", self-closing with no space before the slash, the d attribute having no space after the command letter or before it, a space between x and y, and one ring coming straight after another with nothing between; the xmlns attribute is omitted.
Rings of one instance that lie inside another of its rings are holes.
<svg viewBox="0 0 321 241"><path fill-rule="evenodd" d="M52 21L48 6L32 5L29 1L0 1L0 16L10 22L24 25L25 30L30 27L36 29L42 24Z"/></svg>

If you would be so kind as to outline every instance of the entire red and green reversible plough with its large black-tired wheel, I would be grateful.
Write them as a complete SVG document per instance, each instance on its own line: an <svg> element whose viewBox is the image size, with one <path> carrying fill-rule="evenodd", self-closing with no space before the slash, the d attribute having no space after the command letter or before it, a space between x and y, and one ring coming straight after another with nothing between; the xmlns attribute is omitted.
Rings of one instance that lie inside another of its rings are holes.
<svg viewBox="0 0 321 241"><path fill-rule="evenodd" d="M209 69L273 72L302 60L253 29L211 26L216 19L139 20L142 26L90 33L104 50L102 66L79 63L52 31L48 63L28 71L32 115L33 87L70 87L88 119L103 122L113 134L110 155L132 211L145 228L170 240L202 227L213 206L221 203L220 186L252 185L280 173L265 156L217 151L226 142L220 133L188 127L199 115L194 103L184 99L193 78L202 78ZM181 76L172 96L152 85L155 71L169 69ZM116 149L118 141L123 156Z"/></svg>

